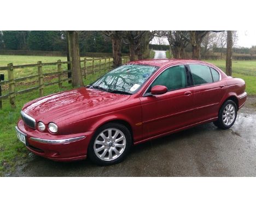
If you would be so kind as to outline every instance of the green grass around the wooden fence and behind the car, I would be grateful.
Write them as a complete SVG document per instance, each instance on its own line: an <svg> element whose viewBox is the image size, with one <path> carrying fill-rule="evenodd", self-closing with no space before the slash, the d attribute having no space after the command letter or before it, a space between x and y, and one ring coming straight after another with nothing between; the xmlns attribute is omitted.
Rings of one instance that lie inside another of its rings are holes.
<svg viewBox="0 0 256 208"><path fill-rule="evenodd" d="M153 54L151 55L153 56ZM6 66L8 63L14 65L42 62L56 62L58 59L65 61L65 57L39 57L39 56L0 56L0 66ZM206 60L225 71L225 60ZM51 66L44 67L46 71L56 70ZM234 61L232 64L234 77L240 77L246 81L246 91L249 95L256 95L256 62L255 61ZM1 71L2 73L2 71ZM16 73L16 72L15 72ZM23 69L19 71L19 77L30 73L37 73L37 69ZM96 78L104 74L104 71L97 72L95 75L89 75L84 79L84 83L89 84ZM21 86L22 87L22 86ZM59 89L57 85L51 85L44 89L44 95L57 93L59 91L72 89L71 84L63 83L63 88ZM20 118L20 110L28 101L36 99L39 96L38 91L33 91L16 97L16 108L13 109L9 105L9 100L3 101L3 109L0 110L0 175L6 170L13 170L19 163L24 162L24 158L28 156L25 146L18 141L14 131L14 127Z"/></svg>

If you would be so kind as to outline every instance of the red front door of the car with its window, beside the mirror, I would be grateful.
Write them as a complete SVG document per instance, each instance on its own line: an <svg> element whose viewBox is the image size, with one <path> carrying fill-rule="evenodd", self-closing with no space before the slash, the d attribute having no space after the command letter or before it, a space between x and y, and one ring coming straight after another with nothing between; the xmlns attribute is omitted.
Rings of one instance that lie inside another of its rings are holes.
<svg viewBox="0 0 256 208"><path fill-rule="evenodd" d="M154 85L165 85L167 93L150 95ZM193 114L193 95L189 71L185 65L172 66L162 71L140 98L143 138L189 125Z"/></svg>

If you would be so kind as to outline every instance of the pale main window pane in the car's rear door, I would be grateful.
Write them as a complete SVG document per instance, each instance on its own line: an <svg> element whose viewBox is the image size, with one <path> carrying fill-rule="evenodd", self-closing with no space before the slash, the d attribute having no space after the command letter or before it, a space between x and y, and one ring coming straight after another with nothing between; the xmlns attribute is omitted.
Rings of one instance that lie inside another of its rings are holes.
<svg viewBox="0 0 256 208"><path fill-rule="evenodd" d="M210 68L205 65L191 64L189 65L194 85L211 83L212 74Z"/></svg>

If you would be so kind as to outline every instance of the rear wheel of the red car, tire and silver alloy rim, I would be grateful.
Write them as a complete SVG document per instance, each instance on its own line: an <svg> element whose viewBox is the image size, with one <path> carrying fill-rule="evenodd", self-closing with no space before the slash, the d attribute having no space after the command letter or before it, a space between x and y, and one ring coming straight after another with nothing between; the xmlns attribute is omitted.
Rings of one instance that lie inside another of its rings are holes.
<svg viewBox="0 0 256 208"><path fill-rule="evenodd" d="M218 120L214 121L213 124L220 129L229 129L235 123L236 116L236 103L232 100L227 100L219 109Z"/></svg>

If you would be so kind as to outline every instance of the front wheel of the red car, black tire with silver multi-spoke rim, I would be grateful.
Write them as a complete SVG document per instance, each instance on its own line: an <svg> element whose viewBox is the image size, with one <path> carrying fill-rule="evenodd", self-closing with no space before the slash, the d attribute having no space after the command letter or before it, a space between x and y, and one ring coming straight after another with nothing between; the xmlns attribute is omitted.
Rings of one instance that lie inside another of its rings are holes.
<svg viewBox="0 0 256 208"><path fill-rule="evenodd" d="M124 160L131 149L131 145L131 132L125 125L119 123L104 124L92 137L88 156L92 162L100 166L116 164Z"/></svg>

